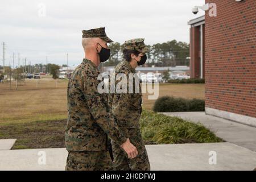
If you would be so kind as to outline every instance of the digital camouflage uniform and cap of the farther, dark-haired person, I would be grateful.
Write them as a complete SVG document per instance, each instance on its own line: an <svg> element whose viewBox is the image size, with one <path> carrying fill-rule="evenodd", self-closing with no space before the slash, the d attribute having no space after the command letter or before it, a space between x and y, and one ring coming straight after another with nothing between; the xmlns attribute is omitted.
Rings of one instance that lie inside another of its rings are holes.
<svg viewBox="0 0 256 182"><path fill-rule="evenodd" d="M144 45L144 39L132 39L125 42L125 49L135 49L139 52L148 52L149 49ZM135 69L131 67L126 60L119 63L112 74L111 79L114 79L118 73L124 73L127 77L127 90L129 90L129 73L135 73ZM139 79L134 79L139 82ZM135 81L133 84L133 93L114 93L109 94L109 104L112 106L112 112L116 118L116 125L130 139L130 142L138 150L138 155L134 159L127 158L127 154L118 147L118 143L112 140L112 150L114 156L114 167L117 170L150 170L147 151L142 139L139 118L142 111L142 93L141 85L139 85L139 93L135 93ZM120 80L115 79L115 86Z"/></svg>

